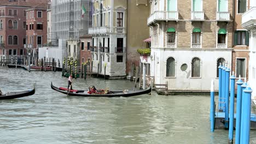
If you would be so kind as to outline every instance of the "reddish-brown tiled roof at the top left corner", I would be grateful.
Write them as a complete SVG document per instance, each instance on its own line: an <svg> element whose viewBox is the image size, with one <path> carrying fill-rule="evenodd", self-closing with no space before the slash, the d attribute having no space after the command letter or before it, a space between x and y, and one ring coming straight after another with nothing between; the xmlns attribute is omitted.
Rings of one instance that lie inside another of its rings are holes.
<svg viewBox="0 0 256 144"><path fill-rule="evenodd" d="M49 0L1 0L0 6L47 8Z"/></svg>

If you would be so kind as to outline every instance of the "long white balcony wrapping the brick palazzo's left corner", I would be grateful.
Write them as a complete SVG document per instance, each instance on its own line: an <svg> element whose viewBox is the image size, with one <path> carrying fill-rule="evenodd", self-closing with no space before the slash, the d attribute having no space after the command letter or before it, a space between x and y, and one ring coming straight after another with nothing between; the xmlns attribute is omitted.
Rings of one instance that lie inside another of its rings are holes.
<svg viewBox="0 0 256 144"><path fill-rule="evenodd" d="M154 21L178 21L178 11L155 11L148 17L148 25Z"/></svg>

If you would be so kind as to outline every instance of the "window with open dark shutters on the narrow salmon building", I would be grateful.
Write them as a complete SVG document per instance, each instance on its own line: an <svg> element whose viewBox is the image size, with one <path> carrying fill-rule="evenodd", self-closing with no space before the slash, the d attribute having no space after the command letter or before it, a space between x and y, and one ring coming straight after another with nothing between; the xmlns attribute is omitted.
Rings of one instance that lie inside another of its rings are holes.
<svg viewBox="0 0 256 144"><path fill-rule="evenodd" d="M234 45L249 45L249 32L248 31L235 31Z"/></svg>

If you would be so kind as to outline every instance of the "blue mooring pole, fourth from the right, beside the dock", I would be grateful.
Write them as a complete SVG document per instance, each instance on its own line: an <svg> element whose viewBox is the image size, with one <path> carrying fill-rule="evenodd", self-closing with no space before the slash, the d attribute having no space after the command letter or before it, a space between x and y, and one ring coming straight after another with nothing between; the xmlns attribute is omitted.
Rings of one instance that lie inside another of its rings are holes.
<svg viewBox="0 0 256 144"><path fill-rule="evenodd" d="M225 128L229 128L229 75L230 69L225 70Z"/></svg>

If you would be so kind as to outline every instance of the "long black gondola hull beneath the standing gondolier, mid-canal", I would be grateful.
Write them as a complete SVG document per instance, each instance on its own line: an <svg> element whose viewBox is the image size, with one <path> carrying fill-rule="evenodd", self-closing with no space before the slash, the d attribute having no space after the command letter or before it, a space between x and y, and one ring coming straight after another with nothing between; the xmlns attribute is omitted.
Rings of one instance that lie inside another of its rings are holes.
<svg viewBox="0 0 256 144"><path fill-rule="evenodd" d="M80 97L131 97L135 95L147 94L151 92L151 87L147 89L140 89L137 91L109 91L107 94L89 94L86 90L71 90L67 91L67 88L58 88L53 85L51 82L51 88L57 92L61 92L63 94L71 95L71 96L80 96Z"/></svg>

